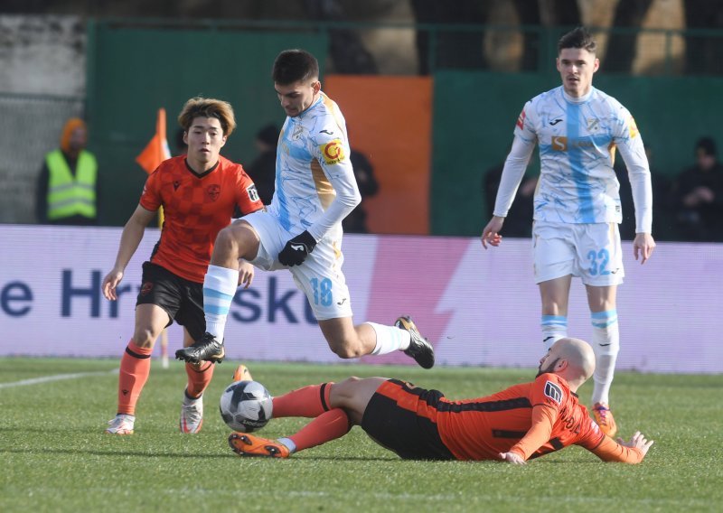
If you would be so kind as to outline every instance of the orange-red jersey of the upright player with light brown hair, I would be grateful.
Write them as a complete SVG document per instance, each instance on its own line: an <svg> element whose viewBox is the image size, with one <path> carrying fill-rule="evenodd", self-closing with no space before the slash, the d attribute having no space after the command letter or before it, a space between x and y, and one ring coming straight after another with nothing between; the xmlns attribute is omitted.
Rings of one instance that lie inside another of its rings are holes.
<svg viewBox="0 0 723 513"><path fill-rule="evenodd" d="M184 155L164 161L151 173L140 205L146 210L164 208L161 238L151 262L196 283L203 283L216 236L236 209L245 215L264 207L240 164L220 156L211 170L196 174Z"/></svg>

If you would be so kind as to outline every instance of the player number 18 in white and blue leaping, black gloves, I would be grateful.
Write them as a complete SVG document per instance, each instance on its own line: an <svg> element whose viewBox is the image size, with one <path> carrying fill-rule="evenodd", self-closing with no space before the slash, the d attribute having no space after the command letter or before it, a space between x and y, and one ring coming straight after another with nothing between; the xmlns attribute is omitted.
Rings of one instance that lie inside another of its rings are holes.
<svg viewBox="0 0 723 513"><path fill-rule="evenodd" d="M274 198L222 229L203 282L206 330L176 358L221 361L223 332L239 284L239 258L264 270L289 269L304 291L329 347L343 359L402 350L423 368L434 350L408 316L394 326L352 323L342 272L342 219L361 201L350 162L346 124L321 90L319 65L303 50L282 51L274 62L274 88L286 122L277 145ZM242 279L245 276L240 276Z"/></svg>

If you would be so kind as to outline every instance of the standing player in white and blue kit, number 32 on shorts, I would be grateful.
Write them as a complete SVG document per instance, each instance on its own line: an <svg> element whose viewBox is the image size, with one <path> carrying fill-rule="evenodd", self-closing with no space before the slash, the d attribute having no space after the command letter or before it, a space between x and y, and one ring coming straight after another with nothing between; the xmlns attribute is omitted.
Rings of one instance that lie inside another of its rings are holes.
<svg viewBox="0 0 723 513"><path fill-rule="evenodd" d="M620 348L615 295L623 283L623 256L617 225L623 214L613 163L623 156L635 206L634 257L651 257L653 193L643 140L630 112L593 88L600 63L596 42L579 27L559 40L557 68L562 86L532 98L522 109L512 150L502 171L493 219L482 244L499 246L502 224L520 186L535 145L540 146L540 182L535 191L535 282L542 300L542 338L549 347L567 337L572 276L587 288L596 355L592 402L597 424L617 431L609 406L610 385Z"/></svg>

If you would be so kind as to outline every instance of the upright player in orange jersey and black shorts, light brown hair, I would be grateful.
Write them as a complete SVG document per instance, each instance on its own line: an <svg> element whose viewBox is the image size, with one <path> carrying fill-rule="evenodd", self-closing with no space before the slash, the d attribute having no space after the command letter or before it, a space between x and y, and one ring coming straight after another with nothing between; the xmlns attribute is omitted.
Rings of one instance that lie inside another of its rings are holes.
<svg viewBox="0 0 723 513"><path fill-rule="evenodd" d="M103 279L103 295L115 301L146 226L163 206L161 238L143 265L136 327L120 360L117 415L108 423L108 434L133 434L136 403L148 379L155 340L164 328L174 321L183 325L184 346L206 331L203 276L219 231L237 209L248 214L264 208L249 175L220 154L236 127L229 103L191 98L178 123L188 152L164 161L148 177L136 211L123 229L116 263ZM252 278L253 266L243 263L239 284L248 286ZM186 374L180 427L183 433L197 433L203 423L202 393L211 382L213 364L188 363Z"/></svg>

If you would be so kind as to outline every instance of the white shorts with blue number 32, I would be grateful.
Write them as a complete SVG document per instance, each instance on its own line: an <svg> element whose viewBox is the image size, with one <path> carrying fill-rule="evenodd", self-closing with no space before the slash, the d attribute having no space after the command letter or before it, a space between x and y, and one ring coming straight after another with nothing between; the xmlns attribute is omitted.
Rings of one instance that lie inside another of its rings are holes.
<svg viewBox="0 0 723 513"><path fill-rule="evenodd" d="M579 276L594 286L623 283L623 250L615 223L551 223L532 226L535 283Z"/></svg>

